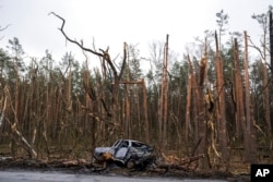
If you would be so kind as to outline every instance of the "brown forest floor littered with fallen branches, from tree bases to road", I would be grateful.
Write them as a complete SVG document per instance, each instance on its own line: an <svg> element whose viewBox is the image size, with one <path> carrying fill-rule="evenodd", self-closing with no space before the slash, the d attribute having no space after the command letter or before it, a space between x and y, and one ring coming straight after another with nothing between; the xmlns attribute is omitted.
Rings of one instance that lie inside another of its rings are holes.
<svg viewBox="0 0 273 182"><path fill-rule="evenodd" d="M251 163L244 162L241 150L230 153L230 161L228 168L223 168L223 163L211 158L211 169L199 171L198 160L185 162L183 158L179 158L179 162L183 165L161 163L162 159L156 157L155 165L147 167L145 170L135 170L119 168L115 165L102 165L94 161L91 153L81 150L82 156L76 157L76 154L60 155L59 153L50 154L50 158L46 159L43 155L41 159L31 159L22 157L12 158L9 148L0 146L0 170L28 170L28 171L60 171L69 173L83 174L117 174L123 177L157 177L157 178L178 178L178 179L219 179L227 181L250 181ZM74 157L72 157L74 156ZM266 153L259 151L258 163L273 163L273 155L271 150ZM78 159L76 159L78 158ZM199 159L199 158L198 158ZM182 161L182 162L181 162ZM213 162L212 162L213 161Z"/></svg>

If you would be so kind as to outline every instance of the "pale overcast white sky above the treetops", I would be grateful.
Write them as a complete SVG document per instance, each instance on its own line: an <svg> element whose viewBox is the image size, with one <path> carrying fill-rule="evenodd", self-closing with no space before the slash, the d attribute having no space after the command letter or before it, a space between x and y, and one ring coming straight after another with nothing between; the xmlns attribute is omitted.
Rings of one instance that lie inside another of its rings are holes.
<svg viewBox="0 0 273 182"><path fill-rule="evenodd" d="M229 15L229 32L261 35L251 15L266 12L272 0L0 0L0 26L10 24L0 32L0 48L17 37L29 57L41 58L48 49L56 60L69 51L83 59L58 31L61 21L48 15L54 11L66 19L71 38L91 48L94 38L97 48L109 46L112 57L122 52L123 41L147 52L149 43L165 40L166 34L170 49L182 54L194 37L217 28L215 14L222 9Z"/></svg>

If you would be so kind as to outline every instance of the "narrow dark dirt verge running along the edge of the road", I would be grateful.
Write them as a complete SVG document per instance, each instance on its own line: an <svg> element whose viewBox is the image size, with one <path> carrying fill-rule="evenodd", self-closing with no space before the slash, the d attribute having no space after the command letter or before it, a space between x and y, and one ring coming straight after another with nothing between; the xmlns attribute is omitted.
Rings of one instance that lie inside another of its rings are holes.
<svg viewBox="0 0 273 182"><path fill-rule="evenodd" d="M235 165L235 163L234 163ZM12 159L10 157L0 158L1 171L27 170L27 171L60 171L68 173L83 173L83 174L116 174L123 177L156 177L156 178L178 178L178 179L221 179L227 181L250 181L249 165L238 162L232 168L240 169L235 172L223 172L219 170L197 171L192 169L163 169L159 167L149 167L145 170L129 170L127 168L119 168L116 166L104 166L87 161L85 159L79 160L63 160L55 159L50 161L37 159Z"/></svg>

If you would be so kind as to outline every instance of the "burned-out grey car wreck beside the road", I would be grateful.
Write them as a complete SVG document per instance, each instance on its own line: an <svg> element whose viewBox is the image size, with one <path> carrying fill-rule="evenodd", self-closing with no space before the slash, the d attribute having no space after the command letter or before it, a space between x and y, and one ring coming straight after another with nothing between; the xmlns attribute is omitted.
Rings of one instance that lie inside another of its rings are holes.
<svg viewBox="0 0 273 182"><path fill-rule="evenodd" d="M145 169L155 160L154 148L133 139L118 139L111 147L96 147L93 157L97 161L110 161L129 169Z"/></svg>

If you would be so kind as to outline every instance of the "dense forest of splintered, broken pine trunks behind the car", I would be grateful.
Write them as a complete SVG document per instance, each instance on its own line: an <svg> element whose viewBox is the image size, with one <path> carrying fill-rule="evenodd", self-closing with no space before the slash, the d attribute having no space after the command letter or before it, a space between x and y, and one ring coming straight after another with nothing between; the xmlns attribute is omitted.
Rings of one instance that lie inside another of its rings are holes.
<svg viewBox="0 0 273 182"><path fill-rule="evenodd" d="M218 29L205 31L194 41L198 49L182 60L168 47L171 35L151 44L146 72L138 46L121 43L122 56L112 59L108 49L73 40L64 17L50 15L62 21L60 36L86 59L64 52L55 60L46 50L43 58L26 60L15 37L0 48L0 153L91 158L95 146L132 138L158 155L204 155L200 169L226 170L238 156L244 162L273 160L272 9L252 16L261 25L261 44L250 39L247 27L228 33L222 10ZM94 61L99 66L91 68Z"/></svg>

